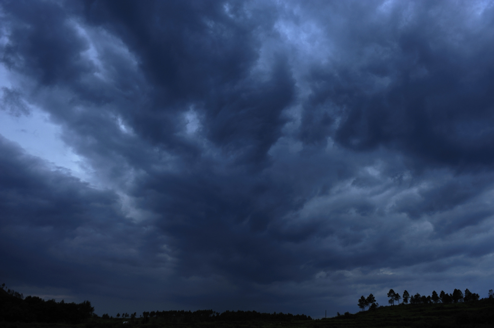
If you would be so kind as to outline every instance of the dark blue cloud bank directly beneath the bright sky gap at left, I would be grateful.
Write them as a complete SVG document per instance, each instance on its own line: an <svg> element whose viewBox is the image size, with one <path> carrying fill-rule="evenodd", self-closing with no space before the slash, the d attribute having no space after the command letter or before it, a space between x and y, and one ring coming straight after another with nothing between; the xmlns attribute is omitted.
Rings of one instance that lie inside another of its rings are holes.
<svg viewBox="0 0 494 328"><path fill-rule="evenodd" d="M3 279L69 288L71 298L131 299L134 291L122 286L156 281L143 265L162 274L172 265L162 237L129 219L115 192L94 189L4 138L0 148Z"/></svg>

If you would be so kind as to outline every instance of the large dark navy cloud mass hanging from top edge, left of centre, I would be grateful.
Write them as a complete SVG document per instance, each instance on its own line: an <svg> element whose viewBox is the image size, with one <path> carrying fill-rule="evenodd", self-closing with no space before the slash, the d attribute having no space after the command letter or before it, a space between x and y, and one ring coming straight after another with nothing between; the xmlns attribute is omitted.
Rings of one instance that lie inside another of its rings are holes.
<svg viewBox="0 0 494 328"><path fill-rule="evenodd" d="M281 111L293 98L283 56L271 78L252 76L259 36L273 17L247 3L86 3L90 23L108 27L129 47L151 83L149 106L129 113L136 131L151 142L176 147L176 114L191 103L204 112L208 139L247 160L262 160L280 136ZM267 8L264 8L267 9ZM255 21L247 14L256 15ZM260 26L259 26L259 23ZM259 33L259 32L258 32ZM165 110L164 110L165 109Z"/></svg>

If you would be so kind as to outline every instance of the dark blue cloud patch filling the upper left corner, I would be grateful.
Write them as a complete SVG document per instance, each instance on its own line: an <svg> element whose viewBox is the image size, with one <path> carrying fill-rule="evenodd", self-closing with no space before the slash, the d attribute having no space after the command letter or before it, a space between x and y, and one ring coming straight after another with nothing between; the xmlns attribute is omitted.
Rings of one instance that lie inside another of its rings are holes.
<svg viewBox="0 0 494 328"><path fill-rule="evenodd" d="M81 52L87 43L70 26L68 13L54 2L4 1L11 31L2 61L33 75L41 84L74 83L90 70ZM13 41L13 42L12 42Z"/></svg>

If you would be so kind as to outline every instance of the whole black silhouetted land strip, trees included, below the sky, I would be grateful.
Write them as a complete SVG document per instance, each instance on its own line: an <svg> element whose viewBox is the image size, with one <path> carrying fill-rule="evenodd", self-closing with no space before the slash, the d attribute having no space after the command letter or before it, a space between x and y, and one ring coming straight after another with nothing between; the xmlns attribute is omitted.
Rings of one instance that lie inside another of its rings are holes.
<svg viewBox="0 0 494 328"><path fill-rule="evenodd" d="M372 328L372 327L493 327L494 292L479 300L479 295L454 290L453 293L432 292L432 296L416 293L403 297L390 290L391 306L379 306L375 297L363 295L358 300L361 311L345 312L334 318L313 320L306 315L259 313L256 311L151 311L137 315L118 313L101 317L93 314L89 301L80 304L63 300L42 300L18 292L0 290L0 327L2 328ZM400 304L400 299L403 302ZM409 304L410 301L410 304ZM395 302L398 302L395 304Z"/></svg>

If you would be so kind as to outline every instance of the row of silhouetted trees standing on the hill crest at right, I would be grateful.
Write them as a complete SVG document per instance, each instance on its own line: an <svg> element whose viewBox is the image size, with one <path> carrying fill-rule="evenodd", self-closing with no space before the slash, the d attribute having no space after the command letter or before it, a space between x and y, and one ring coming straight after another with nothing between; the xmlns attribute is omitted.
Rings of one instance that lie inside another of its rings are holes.
<svg viewBox="0 0 494 328"><path fill-rule="evenodd" d="M399 293L390 289L387 296L389 298L388 303L391 305L394 305L395 302L400 304L400 299L403 299L402 304L408 304L409 302L410 304L450 304L476 301L480 297L479 294L470 292L468 289L466 289L464 293L458 289L455 289L453 293L449 294L444 291L441 291L439 294L436 291L432 291L432 295L428 296L420 295L418 292L415 295L410 295L410 293L406 290L403 292L403 296L401 296ZM489 291L489 298L494 298L493 290ZM362 311L365 311L367 307L370 310L379 306L379 304L375 301L374 295L372 294L367 297L362 295L359 299L358 305Z"/></svg>

